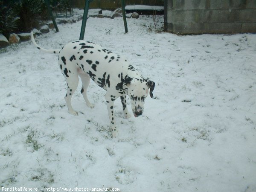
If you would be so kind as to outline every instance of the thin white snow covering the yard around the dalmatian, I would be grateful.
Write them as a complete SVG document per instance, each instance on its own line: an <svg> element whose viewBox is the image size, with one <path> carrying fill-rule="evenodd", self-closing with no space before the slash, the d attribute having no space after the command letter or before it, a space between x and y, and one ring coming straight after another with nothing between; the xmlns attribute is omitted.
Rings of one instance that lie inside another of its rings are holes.
<svg viewBox="0 0 256 192"><path fill-rule="evenodd" d="M256 35L178 36L156 20L128 18L127 34L122 17L87 20L85 40L156 83L138 118L124 119L115 102L113 139L104 90L90 83L90 109L80 82L79 115L70 115L57 55L30 41L0 50L0 187L256 191ZM58 28L37 43L58 49L77 40L81 21Z"/></svg>

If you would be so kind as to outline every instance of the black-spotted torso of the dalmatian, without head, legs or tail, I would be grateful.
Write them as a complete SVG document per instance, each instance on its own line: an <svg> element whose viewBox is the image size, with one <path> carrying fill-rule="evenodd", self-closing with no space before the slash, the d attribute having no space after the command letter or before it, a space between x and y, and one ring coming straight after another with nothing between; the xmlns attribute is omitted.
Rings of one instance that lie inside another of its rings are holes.
<svg viewBox="0 0 256 192"><path fill-rule="evenodd" d="M81 73L87 73L105 90L110 87L110 79L112 82L120 82L121 75L125 76L127 72L140 77L134 68L128 70L132 66L124 57L90 41L66 44L59 53L58 63L64 76L70 76L69 73L76 73L80 69Z"/></svg>

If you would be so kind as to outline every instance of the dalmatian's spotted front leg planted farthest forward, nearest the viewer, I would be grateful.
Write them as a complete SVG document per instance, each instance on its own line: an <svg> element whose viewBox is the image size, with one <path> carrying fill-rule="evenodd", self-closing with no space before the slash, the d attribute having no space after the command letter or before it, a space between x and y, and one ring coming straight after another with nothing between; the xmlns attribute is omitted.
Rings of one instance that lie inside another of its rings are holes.
<svg viewBox="0 0 256 192"><path fill-rule="evenodd" d="M118 134L118 130L116 128L116 121L115 121L114 109L113 109L113 105L114 105L114 101L116 100L116 96L109 95L108 93L106 93L105 99L107 102L108 116L109 116L109 120L110 120L110 128L112 131L112 137L116 137Z"/></svg>

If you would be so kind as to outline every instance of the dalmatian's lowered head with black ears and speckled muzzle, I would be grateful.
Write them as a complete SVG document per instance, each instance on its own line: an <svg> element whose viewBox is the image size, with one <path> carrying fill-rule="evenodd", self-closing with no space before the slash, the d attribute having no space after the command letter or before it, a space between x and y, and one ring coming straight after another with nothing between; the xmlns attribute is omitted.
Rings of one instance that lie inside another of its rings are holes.
<svg viewBox="0 0 256 192"><path fill-rule="evenodd" d="M155 83L148 79L137 79L126 77L123 82L116 85L116 90L126 90L131 99L131 108L134 116L140 116L143 113L145 98L149 95L153 97Z"/></svg>

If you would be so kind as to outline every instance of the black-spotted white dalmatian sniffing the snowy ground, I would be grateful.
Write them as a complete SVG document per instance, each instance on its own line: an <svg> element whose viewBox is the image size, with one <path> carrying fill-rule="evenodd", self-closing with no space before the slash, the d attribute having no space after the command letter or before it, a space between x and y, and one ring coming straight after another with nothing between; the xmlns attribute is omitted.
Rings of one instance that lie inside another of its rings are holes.
<svg viewBox="0 0 256 192"><path fill-rule="evenodd" d="M31 32L33 44L42 52L58 54L58 65L67 81L66 100L69 113L78 115L72 108L71 98L78 87L79 77L82 81L81 93L86 105L93 108L87 98L87 87L92 79L97 85L106 90L108 115L112 137L116 137L118 129L113 112L114 101L120 97L125 117L130 114L127 109L126 96L131 99L131 108L134 116L143 113L145 98L153 98L155 83L144 79L140 73L122 56L105 49L90 41L73 41L61 49L44 49L36 44Z"/></svg>

